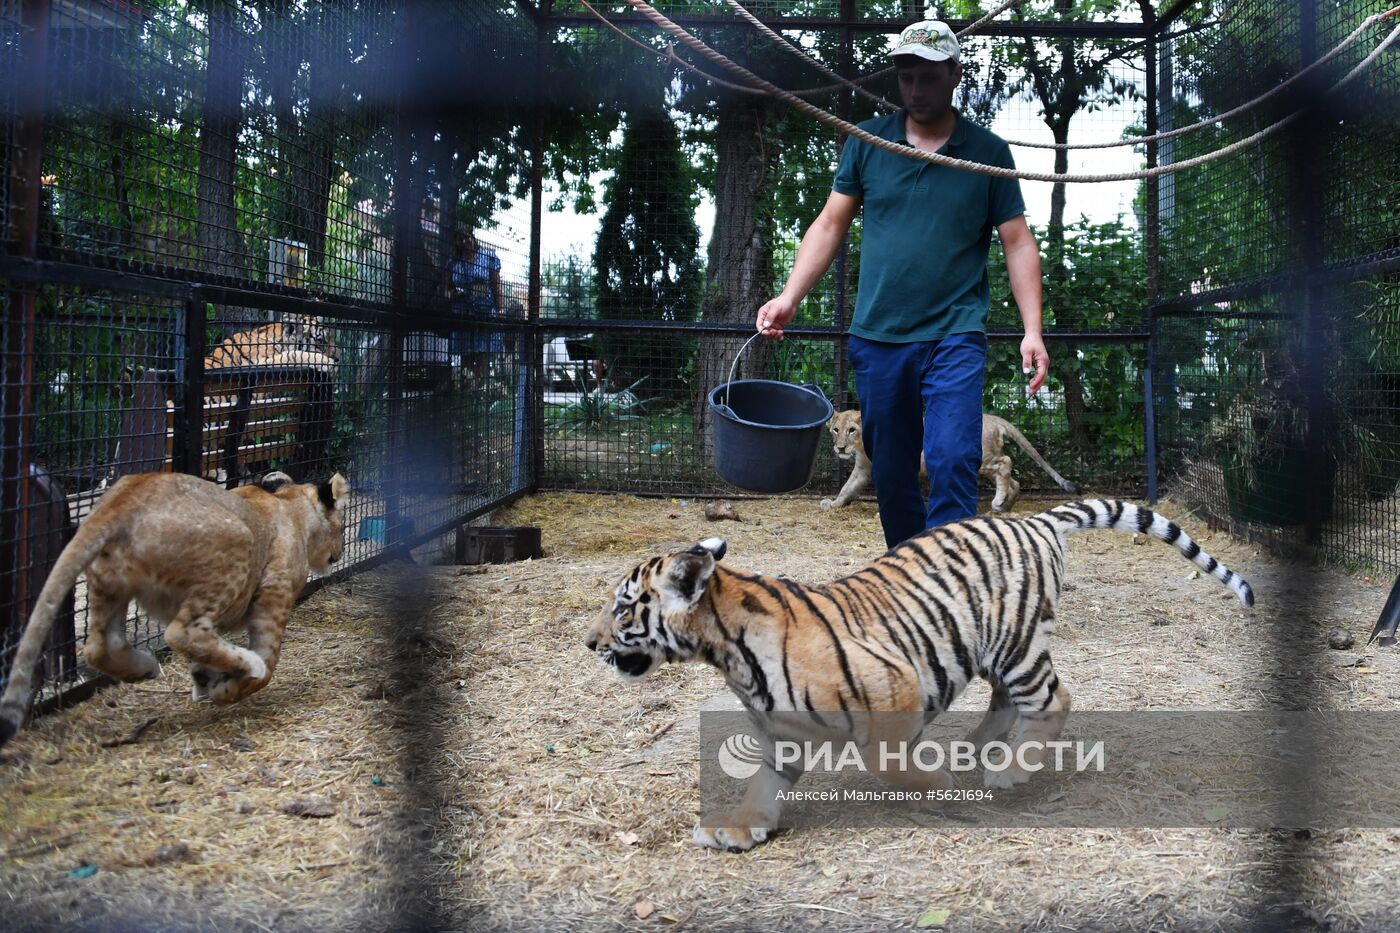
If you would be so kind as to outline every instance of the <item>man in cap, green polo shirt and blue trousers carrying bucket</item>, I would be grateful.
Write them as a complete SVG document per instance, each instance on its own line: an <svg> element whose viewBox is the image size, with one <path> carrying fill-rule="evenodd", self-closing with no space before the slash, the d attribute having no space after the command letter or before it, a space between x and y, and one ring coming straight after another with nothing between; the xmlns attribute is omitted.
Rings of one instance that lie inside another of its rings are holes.
<svg viewBox="0 0 1400 933"><path fill-rule="evenodd" d="M904 106L861 129L930 153L1014 167L1004 140L952 106L962 63L948 25L909 27L890 57ZM1029 391L1044 384L1050 357L1040 333L1040 252L1014 178L932 165L851 137L832 189L802 237L783 293L759 308L756 324L781 339L864 209L847 352L881 524L893 546L977 513L993 228L1026 332L1021 363L1025 373L1035 371ZM920 452L928 464L927 504L918 488Z"/></svg>

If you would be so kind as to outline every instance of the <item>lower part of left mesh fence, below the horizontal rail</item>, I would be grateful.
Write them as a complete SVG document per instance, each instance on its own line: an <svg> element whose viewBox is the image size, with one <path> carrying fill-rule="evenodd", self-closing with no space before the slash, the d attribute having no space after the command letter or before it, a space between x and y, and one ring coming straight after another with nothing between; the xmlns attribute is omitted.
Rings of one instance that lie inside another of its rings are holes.
<svg viewBox="0 0 1400 933"><path fill-rule="evenodd" d="M17 301L17 283L7 284L7 301ZM10 510L15 521L6 538L17 584L4 605L6 670L25 607L62 544L122 476L178 469L227 486L273 471L298 482L336 471L354 476L342 504L342 573L395 545L430 539L529 485L528 370L518 332L490 332L510 350L493 354L491 387L483 389L469 370L407 349L392 380L393 332L382 318L281 312L252 329L230 329L217 317L228 305L189 297L39 286L32 300L34 434L28 503ZM235 312L242 322L259 311ZM190 354L192 319L204 354ZM477 336L459 321L430 321L434 342ZM160 636L140 616L132 630L133 642ZM67 661L52 685L73 679L84 632L80 587L74 621L56 636L53 656Z"/></svg>

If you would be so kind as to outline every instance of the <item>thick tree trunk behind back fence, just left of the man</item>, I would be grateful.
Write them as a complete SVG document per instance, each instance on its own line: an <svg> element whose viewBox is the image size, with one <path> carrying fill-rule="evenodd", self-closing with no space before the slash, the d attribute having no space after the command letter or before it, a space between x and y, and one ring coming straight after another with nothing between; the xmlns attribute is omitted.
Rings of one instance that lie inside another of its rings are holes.
<svg viewBox="0 0 1400 933"><path fill-rule="evenodd" d="M773 235L762 203L769 186L771 160L763 130L770 105L748 95L720 99L715 122L714 233L707 251L706 294L700 317L710 324L753 326L759 307L773 297ZM696 434L706 458L710 433L710 389L729 380L729 367L748 338L701 336L696 366ZM755 340L739 361L735 378L752 378L766 370L771 347Z"/></svg>

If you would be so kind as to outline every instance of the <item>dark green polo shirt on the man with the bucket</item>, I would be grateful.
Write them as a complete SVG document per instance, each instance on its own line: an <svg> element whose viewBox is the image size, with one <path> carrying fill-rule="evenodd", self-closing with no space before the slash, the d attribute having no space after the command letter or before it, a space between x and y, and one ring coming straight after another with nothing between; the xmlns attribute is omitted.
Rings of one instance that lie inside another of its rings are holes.
<svg viewBox="0 0 1400 933"><path fill-rule="evenodd" d="M909 146L904 116L900 109L861 129ZM1015 168L1005 140L962 115L938 151ZM851 333L913 343L987 331L991 228L1026 212L1015 178L931 165L847 139L832 188L862 200Z"/></svg>

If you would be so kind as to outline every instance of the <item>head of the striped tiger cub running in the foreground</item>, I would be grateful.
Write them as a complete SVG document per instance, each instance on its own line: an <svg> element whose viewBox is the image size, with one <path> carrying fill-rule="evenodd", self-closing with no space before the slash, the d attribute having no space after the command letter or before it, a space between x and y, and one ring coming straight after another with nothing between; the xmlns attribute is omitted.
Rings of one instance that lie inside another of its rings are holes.
<svg viewBox="0 0 1400 933"><path fill-rule="evenodd" d="M637 681L666 661L694 657L690 616L704 597L724 538L643 560L622 579L588 629L585 644L623 679Z"/></svg>

